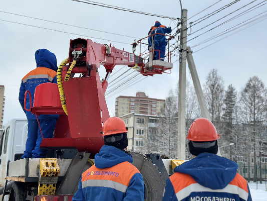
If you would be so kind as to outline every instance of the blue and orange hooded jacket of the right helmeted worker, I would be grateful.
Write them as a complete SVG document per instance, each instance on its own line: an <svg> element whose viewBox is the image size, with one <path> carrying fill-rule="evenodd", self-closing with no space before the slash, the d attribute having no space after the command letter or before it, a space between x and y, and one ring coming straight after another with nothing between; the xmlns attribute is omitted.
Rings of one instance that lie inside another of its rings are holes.
<svg viewBox="0 0 267 201"><path fill-rule="evenodd" d="M174 169L162 200L250 201L247 182L237 168L231 160L202 153Z"/></svg>

